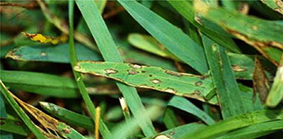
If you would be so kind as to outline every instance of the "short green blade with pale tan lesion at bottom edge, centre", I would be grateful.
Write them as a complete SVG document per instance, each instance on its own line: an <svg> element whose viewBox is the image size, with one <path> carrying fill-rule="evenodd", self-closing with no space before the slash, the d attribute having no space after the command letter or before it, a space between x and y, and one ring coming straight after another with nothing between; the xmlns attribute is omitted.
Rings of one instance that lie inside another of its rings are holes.
<svg viewBox="0 0 283 139"><path fill-rule="evenodd" d="M151 137L151 138L180 139L183 135L187 133L192 133L192 132L195 132L196 130L200 130L205 127L206 126L199 124L199 123L189 123L183 126L178 126L176 128L168 129L166 131L158 133L158 135L156 135L155 137ZM149 138L143 138L143 139L149 139Z"/></svg>

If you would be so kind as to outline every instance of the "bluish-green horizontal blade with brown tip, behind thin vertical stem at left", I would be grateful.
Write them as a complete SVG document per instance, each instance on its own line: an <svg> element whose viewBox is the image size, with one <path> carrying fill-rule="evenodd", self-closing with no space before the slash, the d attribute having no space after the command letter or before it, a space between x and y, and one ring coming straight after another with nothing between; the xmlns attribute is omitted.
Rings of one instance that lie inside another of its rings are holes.
<svg viewBox="0 0 283 139"><path fill-rule="evenodd" d="M94 52L83 45L76 43L76 55L78 60L102 60L101 55L98 52ZM10 57L13 60L23 61L40 61L40 62L60 62L69 63L70 56L68 44L56 45L56 46L21 46L15 48L7 53L6 57Z"/></svg>

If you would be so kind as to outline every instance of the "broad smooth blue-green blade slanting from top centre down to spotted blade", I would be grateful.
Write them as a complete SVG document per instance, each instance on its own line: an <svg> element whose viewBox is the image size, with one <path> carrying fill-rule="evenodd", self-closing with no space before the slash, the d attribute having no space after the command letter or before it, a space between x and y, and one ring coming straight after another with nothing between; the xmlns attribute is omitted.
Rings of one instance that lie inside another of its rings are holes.
<svg viewBox="0 0 283 139"><path fill-rule="evenodd" d="M182 30L137 1L119 2L144 29L176 57L179 57L180 60L183 60L201 74L208 72L207 65L205 64L204 50L189 36L185 35Z"/></svg>

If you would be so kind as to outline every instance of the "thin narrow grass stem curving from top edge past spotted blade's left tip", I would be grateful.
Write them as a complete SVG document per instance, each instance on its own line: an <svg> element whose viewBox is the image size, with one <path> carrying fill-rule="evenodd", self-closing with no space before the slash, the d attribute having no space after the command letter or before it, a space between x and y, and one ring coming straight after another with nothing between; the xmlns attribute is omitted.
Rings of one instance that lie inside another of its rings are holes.
<svg viewBox="0 0 283 139"><path fill-rule="evenodd" d="M69 53L71 58L71 67L74 67L76 65L77 57L76 57L76 50L74 47L74 1L69 0ZM79 72L74 72L74 77L76 79L76 83L79 87L79 90L81 92L81 96L83 97L83 101L86 102L86 107L88 108L88 111L91 113L91 117L93 118L93 121L96 121L96 111L95 106L93 105L93 102L91 101L91 97L88 96L88 92L86 91L86 87L83 83L83 79L81 79L81 74ZM100 124L99 124L99 131L103 138L110 137L111 133L108 127L105 125L103 120L100 118Z"/></svg>

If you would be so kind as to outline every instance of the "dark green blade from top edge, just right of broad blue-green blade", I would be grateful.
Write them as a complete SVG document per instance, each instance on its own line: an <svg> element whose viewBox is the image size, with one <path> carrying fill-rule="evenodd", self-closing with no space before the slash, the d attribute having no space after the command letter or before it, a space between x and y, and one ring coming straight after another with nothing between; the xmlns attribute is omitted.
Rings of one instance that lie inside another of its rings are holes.
<svg viewBox="0 0 283 139"><path fill-rule="evenodd" d="M224 46L231 52L241 53L241 50L238 48L235 42L233 42L232 38L227 37L226 35L221 35L220 33L215 32L214 30L210 30L208 28L204 28L197 21L195 21L195 11L190 4L189 1L170 1L168 3L173 6L173 8L178 11L184 18L187 19L192 25L200 29L205 35L207 35L212 40L216 41L220 45Z"/></svg>

